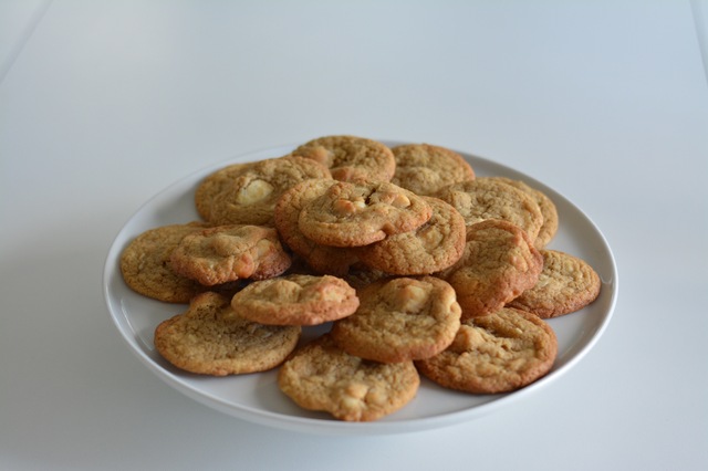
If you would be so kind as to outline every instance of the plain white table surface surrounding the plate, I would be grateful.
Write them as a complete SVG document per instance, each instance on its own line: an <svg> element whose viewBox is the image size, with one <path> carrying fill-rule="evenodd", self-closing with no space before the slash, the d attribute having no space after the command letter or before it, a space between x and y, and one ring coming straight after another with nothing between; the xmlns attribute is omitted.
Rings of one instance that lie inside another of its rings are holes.
<svg viewBox="0 0 708 471"><path fill-rule="evenodd" d="M0 469L708 469L707 18L705 0L0 1ZM522 401L386 437L253 425L159 380L104 303L117 231L195 170L330 134L466 150L565 195L617 261L603 337Z"/></svg>

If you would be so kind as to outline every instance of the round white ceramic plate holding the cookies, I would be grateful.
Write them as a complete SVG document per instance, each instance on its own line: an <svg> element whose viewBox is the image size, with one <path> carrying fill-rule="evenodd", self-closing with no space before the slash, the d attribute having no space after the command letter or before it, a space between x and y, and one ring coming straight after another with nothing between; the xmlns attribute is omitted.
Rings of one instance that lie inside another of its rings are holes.
<svg viewBox="0 0 708 471"><path fill-rule="evenodd" d="M157 324L184 312L186 305L162 303L131 291L121 276L121 252L131 240L148 229L198 220L194 207L194 190L210 172L231 163L279 157L291 149L292 147L279 147L244 155L177 181L147 201L127 221L108 252L104 294L111 317L131 350L177 390L233 417L281 429L323 435L403 433L472 420L537 393L572 368L605 331L617 297L617 270L601 231L579 208L543 184L493 161L460 153L478 176L523 179L551 197L558 207L560 228L549 248L582 258L602 279L600 297L593 304L580 312L549 321L558 335L559 355L553 369L545 377L521 390L489 396L446 390L423 378L417 397L399 411L375 422L351 423L335 420L325 412L300 409L279 390L275 370L222 378L178 370L157 354L153 345L153 333Z"/></svg>

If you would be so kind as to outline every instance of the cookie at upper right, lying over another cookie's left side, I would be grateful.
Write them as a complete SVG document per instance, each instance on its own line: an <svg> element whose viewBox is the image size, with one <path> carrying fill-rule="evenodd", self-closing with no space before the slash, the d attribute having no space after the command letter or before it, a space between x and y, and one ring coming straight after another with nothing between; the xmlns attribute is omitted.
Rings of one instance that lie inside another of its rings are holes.
<svg viewBox="0 0 708 471"><path fill-rule="evenodd" d="M501 219L517 224L534 241L543 224L541 209L531 195L493 178L450 185L437 197L452 205L468 228L488 219Z"/></svg>

